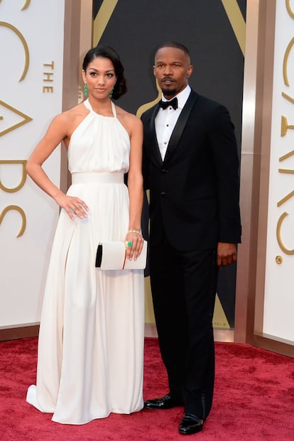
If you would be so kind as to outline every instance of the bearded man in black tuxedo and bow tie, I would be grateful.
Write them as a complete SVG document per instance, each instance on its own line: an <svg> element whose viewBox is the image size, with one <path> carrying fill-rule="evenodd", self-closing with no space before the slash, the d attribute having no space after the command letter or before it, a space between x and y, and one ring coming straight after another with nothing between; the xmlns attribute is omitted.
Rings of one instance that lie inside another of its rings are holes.
<svg viewBox="0 0 294 441"><path fill-rule="evenodd" d="M145 408L184 406L179 432L203 428L212 406L212 317L217 272L241 240L239 158L227 109L192 91L187 48L156 50L163 92L142 115L143 176L150 190L150 276L169 391Z"/></svg>

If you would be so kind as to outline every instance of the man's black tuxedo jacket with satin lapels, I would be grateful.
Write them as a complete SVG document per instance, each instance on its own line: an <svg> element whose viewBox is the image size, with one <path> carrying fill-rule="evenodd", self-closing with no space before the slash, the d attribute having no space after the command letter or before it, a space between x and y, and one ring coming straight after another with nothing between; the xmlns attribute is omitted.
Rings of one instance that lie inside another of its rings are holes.
<svg viewBox="0 0 294 441"><path fill-rule="evenodd" d="M158 109L156 104L141 116L151 246L160 243L163 233L178 251L240 242L239 158L229 112L191 91L162 160L155 129Z"/></svg>

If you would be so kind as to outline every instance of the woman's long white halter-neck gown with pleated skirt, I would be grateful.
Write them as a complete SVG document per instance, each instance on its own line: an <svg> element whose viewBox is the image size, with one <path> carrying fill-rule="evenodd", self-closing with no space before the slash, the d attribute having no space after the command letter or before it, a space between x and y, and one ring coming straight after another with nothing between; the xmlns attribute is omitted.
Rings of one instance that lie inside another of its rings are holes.
<svg viewBox="0 0 294 441"><path fill-rule="evenodd" d="M52 420L84 424L143 408L143 271L95 268L99 241L124 240L129 227L129 134L114 116L89 114L68 148L67 195L86 219L60 212L45 285L36 386L27 401Z"/></svg>

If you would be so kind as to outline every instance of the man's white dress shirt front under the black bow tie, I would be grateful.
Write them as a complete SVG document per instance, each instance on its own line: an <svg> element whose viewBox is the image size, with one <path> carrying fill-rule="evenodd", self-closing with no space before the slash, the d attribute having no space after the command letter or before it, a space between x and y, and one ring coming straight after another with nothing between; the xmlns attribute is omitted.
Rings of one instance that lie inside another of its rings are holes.
<svg viewBox="0 0 294 441"><path fill-rule="evenodd" d="M180 112L182 111L185 103L190 95L191 87L187 85L185 89L182 90L176 97L178 98L178 109L173 109L173 107L168 106L166 109L158 110L158 114L155 119L156 126L156 138L158 142L158 147L160 150L161 158L164 159L166 149L168 148L168 143L170 141L170 136L175 129L175 124L178 121ZM163 101L168 101L165 97L162 97Z"/></svg>

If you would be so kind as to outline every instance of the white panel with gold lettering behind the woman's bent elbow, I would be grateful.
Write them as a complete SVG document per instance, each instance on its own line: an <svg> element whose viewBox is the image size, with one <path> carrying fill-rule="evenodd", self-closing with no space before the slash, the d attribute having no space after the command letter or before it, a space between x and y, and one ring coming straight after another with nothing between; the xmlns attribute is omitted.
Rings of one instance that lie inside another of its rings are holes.
<svg viewBox="0 0 294 441"><path fill-rule="evenodd" d="M40 320L58 206L25 165L62 109L64 1L0 2L0 328ZM5 44L3 44L5 42ZM60 148L45 163L60 183Z"/></svg>

